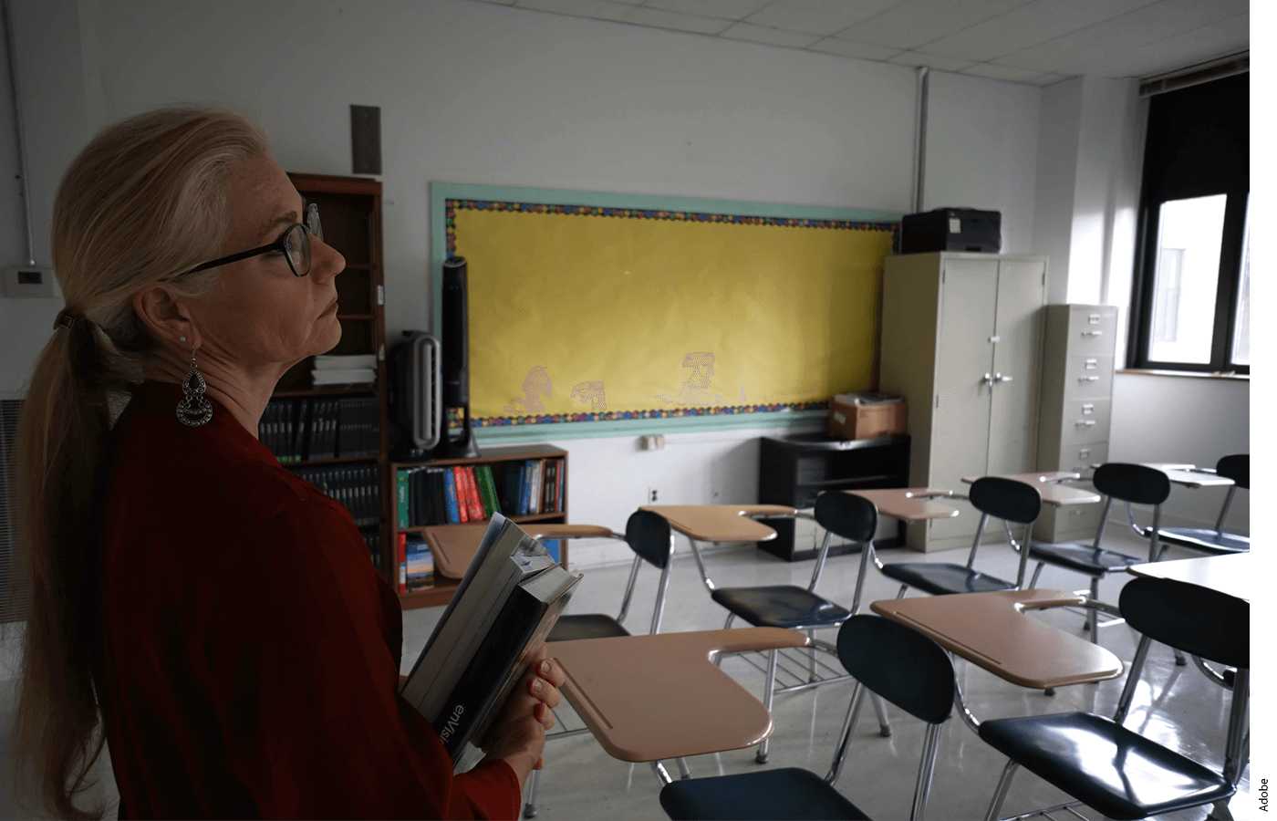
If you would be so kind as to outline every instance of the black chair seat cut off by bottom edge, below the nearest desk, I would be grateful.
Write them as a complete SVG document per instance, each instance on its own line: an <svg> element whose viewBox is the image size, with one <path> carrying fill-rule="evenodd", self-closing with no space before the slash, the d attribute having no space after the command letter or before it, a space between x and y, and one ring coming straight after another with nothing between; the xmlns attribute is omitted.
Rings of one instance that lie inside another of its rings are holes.
<svg viewBox="0 0 1277 821"><path fill-rule="evenodd" d="M667 784L660 806L688 821L870 821L810 770L785 767Z"/></svg>

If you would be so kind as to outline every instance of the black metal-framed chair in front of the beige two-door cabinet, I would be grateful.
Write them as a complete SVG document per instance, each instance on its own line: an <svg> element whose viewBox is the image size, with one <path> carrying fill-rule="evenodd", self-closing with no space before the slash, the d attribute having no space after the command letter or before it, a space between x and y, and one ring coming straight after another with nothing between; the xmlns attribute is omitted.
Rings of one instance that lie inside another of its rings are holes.
<svg viewBox="0 0 1277 821"><path fill-rule="evenodd" d="M941 562L899 562L884 564L870 544L861 555L861 573L856 581L856 596L852 600L852 612L859 613L861 594L865 589L865 575L868 571L870 561L873 562L879 572L888 578L900 582L900 591L896 599L904 598L909 587L917 587L931 595L949 595L955 592L992 592L996 590L1018 590L1024 586L1024 572L1028 567L1028 553L1011 536L1011 522L1024 525L1024 543L1028 544L1032 535L1033 522L1042 512L1042 495L1037 488L1014 479L1001 476L983 476L977 479L969 495L949 494L948 498L967 498L972 506L979 511L979 525L976 527L976 539L967 555L965 567L962 564L946 564ZM1011 546L1020 554L1019 575L1014 582L982 573L974 568L976 553L979 550L981 540L985 535L985 526L990 516L1002 520L1006 538Z"/></svg>

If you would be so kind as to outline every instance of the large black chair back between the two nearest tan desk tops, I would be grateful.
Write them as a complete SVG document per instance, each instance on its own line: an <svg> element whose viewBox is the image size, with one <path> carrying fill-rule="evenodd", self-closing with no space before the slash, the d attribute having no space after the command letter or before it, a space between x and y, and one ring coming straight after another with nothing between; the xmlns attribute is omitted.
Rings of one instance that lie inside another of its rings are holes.
<svg viewBox="0 0 1277 821"><path fill-rule="evenodd" d="M912 627L853 615L838 631L838 658L856 681L923 721L940 724L953 712L953 661Z"/></svg>

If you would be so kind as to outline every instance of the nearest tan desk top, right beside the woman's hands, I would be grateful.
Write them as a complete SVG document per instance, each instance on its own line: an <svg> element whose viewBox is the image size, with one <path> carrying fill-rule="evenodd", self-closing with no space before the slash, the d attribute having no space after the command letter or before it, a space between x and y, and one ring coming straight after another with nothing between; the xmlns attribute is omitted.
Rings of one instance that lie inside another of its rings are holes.
<svg viewBox="0 0 1277 821"><path fill-rule="evenodd" d="M771 735L771 714L713 659L806 644L798 631L750 627L555 641L547 650L567 677L563 696L608 753L660 761Z"/></svg>

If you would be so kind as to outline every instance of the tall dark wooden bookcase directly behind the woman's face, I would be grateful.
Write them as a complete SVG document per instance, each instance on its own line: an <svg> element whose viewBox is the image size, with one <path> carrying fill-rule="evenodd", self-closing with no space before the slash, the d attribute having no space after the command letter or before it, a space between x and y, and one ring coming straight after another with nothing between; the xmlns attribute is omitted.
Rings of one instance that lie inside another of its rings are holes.
<svg viewBox="0 0 1277 821"><path fill-rule="evenodd" d="M312 387L310 369L314 358L308 356L283 374L272 398L309 397L375 397L379 447L378 455L363 458L331 458L287 462L289 469L309 466L368 466L377 465L381 492L379 521L360 526L363 534L377 532L379 539L381 572L387 581L391 576L391 529L393 520L389 493L389 448L387 428L386 383L386 291L382 268L382 184L358 176L327 176L319 174L289 174L292 185L301 194L304 206L319 206L324 243L346 258L346 268L337 276L337 319L341 322L341 342L328 351L333 355L375 354L377 382L372 388L317 391Z"/></svg>

